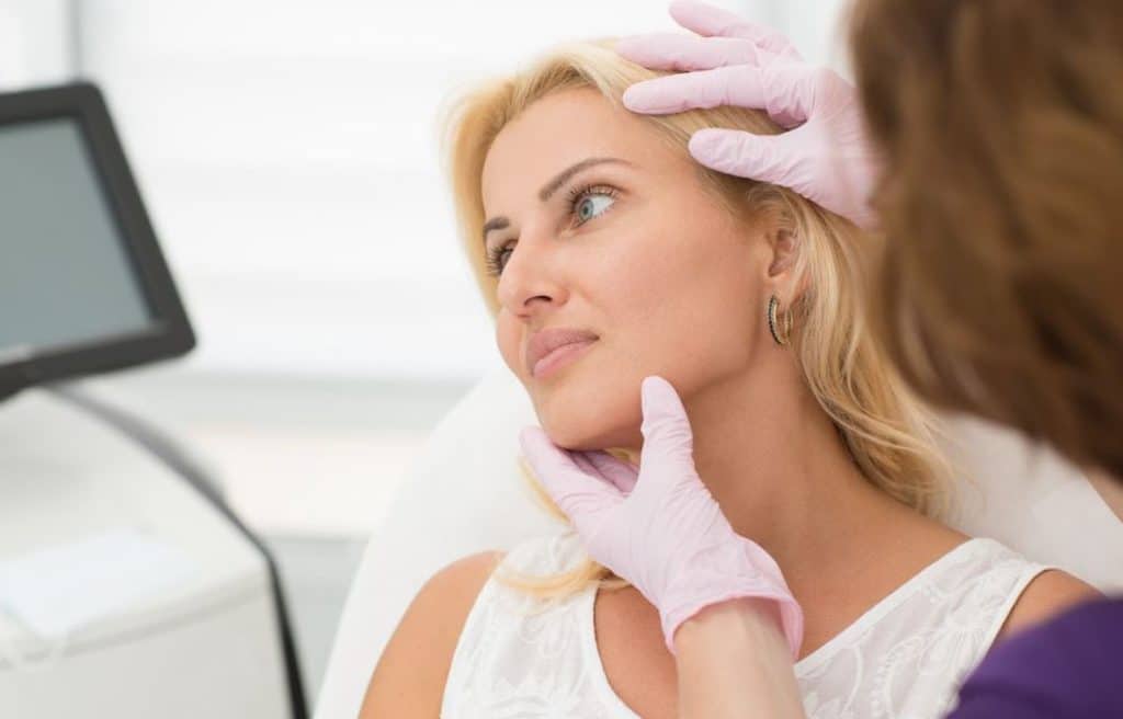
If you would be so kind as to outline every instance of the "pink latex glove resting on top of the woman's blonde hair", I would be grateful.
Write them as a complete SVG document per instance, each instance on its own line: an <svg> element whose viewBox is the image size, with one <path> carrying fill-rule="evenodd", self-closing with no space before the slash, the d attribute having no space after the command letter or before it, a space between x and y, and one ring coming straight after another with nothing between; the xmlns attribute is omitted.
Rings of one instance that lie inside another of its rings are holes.
<svg viewBox="0 0 1123 719"><path fill-rule="evenodd" d="M789 129L776 136L706 129L690 151L706 167L789 187L867 229L878 163L866 140L855 87L803 61L779 33L702 2L675 0L672 17L699 36L652 33L615 50L651 70L686 71L639 82L623 96L634 112L664 114L737 105L764 110Z"/></svg>

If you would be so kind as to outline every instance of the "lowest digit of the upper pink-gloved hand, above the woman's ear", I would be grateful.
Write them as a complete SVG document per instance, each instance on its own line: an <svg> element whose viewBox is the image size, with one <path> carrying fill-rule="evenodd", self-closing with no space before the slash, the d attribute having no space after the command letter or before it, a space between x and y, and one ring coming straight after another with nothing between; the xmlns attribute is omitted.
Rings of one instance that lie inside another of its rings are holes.
<svg viewBox="0 0 1123 719"><path fill-rule="evenodd" d="M783 135L754 135L741 130L705 129L691 136L691 155L718 172L794 190L806 196L807 157L803 128ZM815 197L810 197L815 200Z"/></svg>

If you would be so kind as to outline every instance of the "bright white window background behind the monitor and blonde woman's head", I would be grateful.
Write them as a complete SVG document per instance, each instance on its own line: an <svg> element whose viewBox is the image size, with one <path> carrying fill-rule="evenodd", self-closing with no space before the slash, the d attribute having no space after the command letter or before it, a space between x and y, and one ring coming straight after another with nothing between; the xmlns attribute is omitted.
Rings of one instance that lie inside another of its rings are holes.
<svg viewBox="0 0 1123 719"><path fill-rule="evenodd" d="M62 0L0 0L0 74L65 79ZM559 39L681 28L660 0L76 0L200 347L185 368L463 380L497 361L435 116ZM715 2L830 59L838 0Z"/></svg>

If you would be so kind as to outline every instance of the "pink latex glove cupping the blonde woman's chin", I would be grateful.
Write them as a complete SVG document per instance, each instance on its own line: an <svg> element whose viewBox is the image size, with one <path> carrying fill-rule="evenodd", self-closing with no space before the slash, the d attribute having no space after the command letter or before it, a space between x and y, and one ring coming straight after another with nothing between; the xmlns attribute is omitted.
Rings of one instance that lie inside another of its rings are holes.
<svg viewBox="0 0 1123 719"><path fill-rule="evenodd" d="M678 626L736 598L776 602L793 661L803 610L772 556L733 531L694 469L693 434L666 379L642 382L643 449L637 471L608 452L556 446L539 427L519 435L523 455L570 518L588 555L630 581L659 610L667 649Z"/></svg>

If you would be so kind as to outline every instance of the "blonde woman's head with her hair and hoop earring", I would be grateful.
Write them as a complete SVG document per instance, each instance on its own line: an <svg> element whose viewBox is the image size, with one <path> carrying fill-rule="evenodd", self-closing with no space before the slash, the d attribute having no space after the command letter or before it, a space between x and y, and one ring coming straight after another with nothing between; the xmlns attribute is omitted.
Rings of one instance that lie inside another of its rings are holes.
<svg viewBox="0 0 1123 719"><path fill-rule="evenodd" d="M660 74L611 40L569 44L463 95L446 120L462 239L544 430L566 449L632 453L643 377L665 377L688 411L758 388L763 414L825 412L874 483L931 508L942 487L928 417L865 339L865 238L794 193L690 156L705 127L779 131L763 113L622 105L630 84ZM596 339L536 376L528 343L553 328Z"/></svg>

